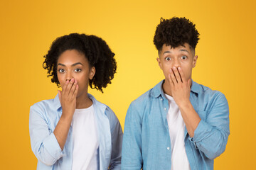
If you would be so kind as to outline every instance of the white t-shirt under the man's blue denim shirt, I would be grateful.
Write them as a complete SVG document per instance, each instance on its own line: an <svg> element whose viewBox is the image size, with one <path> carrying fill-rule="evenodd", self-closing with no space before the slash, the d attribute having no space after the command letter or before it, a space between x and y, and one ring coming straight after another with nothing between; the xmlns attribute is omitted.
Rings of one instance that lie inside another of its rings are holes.
<svg viewBox="0 0 256 170"><path fill-rule="evenodd" d="M184 142L185 123L174 98L166 95L169 111L166 116L171 139L171 170L190 169Z"/></svg>

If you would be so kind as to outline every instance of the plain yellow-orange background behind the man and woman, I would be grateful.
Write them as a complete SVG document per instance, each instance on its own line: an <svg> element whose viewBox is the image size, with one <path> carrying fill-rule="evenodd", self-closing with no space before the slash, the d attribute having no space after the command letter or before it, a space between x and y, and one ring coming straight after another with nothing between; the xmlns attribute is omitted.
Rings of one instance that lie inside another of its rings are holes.
<svg viewBox="0 0 256 170"><path fill-rule="evenodd" d="M129 103L164 78L154 31L161 17L185 16L201 33L193 80L222 91L230 106L230 137L215 169L254 169L255 1L3 1L0 5L0 169L36 169L29 107L54 98L43 69L55 38L98 35L116 54L117 74L104 94L90 90L124 127Z"/></svg>

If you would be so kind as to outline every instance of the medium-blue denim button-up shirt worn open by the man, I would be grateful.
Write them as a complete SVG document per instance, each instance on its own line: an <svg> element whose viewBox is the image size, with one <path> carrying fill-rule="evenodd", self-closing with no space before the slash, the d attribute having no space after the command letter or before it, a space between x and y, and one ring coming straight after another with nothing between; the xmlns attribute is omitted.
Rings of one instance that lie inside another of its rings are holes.
<svg viewBox="0 0 256 170"><path fill-rule="evenodd" d="M171 169L171 140L166 115L169 102L161 81L131 103L124 123L122 169ZM185 128L191 169L213 169L213 159L228 142L228 101L219 91L192 82L190 101L201 118L193 138Z"/></svg>

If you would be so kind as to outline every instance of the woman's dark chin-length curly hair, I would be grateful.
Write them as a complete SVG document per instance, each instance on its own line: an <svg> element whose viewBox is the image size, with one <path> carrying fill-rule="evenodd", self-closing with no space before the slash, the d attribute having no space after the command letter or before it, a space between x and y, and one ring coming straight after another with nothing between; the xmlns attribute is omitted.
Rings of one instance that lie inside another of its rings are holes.
<svg viewBox="0 0 256 170"><path fill-rule="evenodd" d="M95 76L89 80L92 89L100 90L111 84L114 73L117 70L117 62L114 59L114 53L110 50L105 40L95 35L85 35L71 33L64 35L53 41L45 55L43 68L48 70L48 77L52 77L51 81L60 86L57 77L58 57L66 50L78 50L89 61L90 67L95 67Z"/></svg>

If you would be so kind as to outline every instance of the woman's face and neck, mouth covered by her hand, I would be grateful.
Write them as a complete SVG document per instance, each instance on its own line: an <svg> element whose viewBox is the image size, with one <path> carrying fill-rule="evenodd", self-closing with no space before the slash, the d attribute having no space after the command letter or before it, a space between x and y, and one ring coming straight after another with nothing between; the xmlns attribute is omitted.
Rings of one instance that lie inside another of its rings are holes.
<svg viewBox="0 0 256 170"><path fill-rule="evenodd" d="M78 95L87 96L89 79L95 75L95 67L90 64L84 54L78 50L65 50L57 61L57 77L60 86L63 87L67 80L76 79L78 81Z"/></svg>

